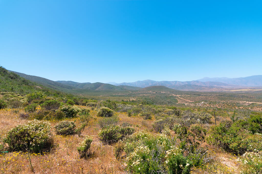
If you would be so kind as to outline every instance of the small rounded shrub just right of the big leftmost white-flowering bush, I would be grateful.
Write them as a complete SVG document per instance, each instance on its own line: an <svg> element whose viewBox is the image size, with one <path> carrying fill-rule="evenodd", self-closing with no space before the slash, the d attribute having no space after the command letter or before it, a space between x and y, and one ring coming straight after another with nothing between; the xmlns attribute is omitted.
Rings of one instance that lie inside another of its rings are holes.
<svg viewBox="0 0 262 174"><path fill-rule="evenodd" d="M57 135L73 135L75 133L75 123L62 121L54 126Z"/></svg>

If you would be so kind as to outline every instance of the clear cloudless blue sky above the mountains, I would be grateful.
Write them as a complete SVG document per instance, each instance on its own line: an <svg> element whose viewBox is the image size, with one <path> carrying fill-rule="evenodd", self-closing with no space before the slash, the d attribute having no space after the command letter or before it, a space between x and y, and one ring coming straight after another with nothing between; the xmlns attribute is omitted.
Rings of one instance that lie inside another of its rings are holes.
<svg viewBox="0 0 262 174"><path fill-rule="evenodd" d="M77 82L261 75L261 9L261 0L0 0L0 65Z"/></svg>

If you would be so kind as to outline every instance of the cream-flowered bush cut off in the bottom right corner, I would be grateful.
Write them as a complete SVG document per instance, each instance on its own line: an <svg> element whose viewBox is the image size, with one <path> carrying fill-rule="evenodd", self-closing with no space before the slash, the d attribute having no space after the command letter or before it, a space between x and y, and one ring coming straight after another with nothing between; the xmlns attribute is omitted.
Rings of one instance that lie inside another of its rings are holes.
<svg viewBox="0 0 262 174"><path fill-rule="evenodd" d="M242 161L244 170L241 173L262 173L262 151L246 152L242 155Z"/></svg>

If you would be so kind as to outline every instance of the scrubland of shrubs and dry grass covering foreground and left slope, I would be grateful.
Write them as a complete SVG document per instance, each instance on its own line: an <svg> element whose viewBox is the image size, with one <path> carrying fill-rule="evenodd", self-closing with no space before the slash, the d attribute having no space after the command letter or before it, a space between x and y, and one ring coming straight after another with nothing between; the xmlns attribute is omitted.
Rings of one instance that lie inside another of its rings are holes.
<svg viewBox="0 0 262 174"><path fill-rule="evenodd" d="M101 100L31 83L12 91L23 79L1 73L2 173L262 173L260 105L196 103L192 93L170 104Z"/></svg>

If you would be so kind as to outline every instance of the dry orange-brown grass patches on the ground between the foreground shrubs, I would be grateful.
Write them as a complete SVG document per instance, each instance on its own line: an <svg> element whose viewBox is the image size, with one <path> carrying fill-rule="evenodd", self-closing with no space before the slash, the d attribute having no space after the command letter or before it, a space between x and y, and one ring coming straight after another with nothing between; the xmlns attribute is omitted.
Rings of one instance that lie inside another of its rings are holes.
<svg viewBox="0 0 262 174"><path fill-rule="evenodd" d="M83 107L83 106L78 106ZM23 109L19 113L23 113ZM8 130L16 125L27 122L26 119L20 119L19 113L14 110L0 110L0 135L6 134ZM119 117L119 123L128 122L133 125L136 131L145 130L153 132L152 124L155 121L144 120L140 116L128 117L127 113L116 113ZM114 157L113 145L103 144L98 138L100 130L98 121L101 117L96 117L96 111L91 111L92 119L84 129L82 135L60 136L56 135L52 129L54 146L51 152L43 154L30 154L30 159L34 173L127 173L124 170L123 161L118 161ZM214 118L212 117L212 121ZM80 125L78 118L67 119ZM58 121L50 121L52 127ZM220 121L217 121L219 124ZM173 134L173 132L172 132ZM80 158L77 147L85 136L91 136L91 155L88 159ZM207 145L207 144L205 144ZM239 173L239 164L236 157L225 152L210 147L210 152L216 156L214 162L206 164L200 168L194 168L192 173ZM233 161L233 162L232 162ZM235 165L233 165L235 164ZM0 173L32 173L29 163L29 157L24 152L0 153Z"/></svg>

